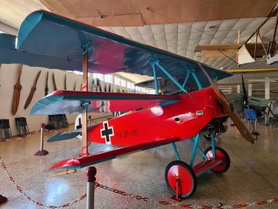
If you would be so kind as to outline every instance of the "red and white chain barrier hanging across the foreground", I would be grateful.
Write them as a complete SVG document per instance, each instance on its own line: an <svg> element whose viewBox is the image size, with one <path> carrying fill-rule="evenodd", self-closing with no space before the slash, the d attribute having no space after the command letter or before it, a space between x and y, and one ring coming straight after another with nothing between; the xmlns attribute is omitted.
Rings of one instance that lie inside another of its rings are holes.
<svg viewBox="0 0 278 209"><path fill-rule="evenodd" d="M8 171L6 164L3 162L1 156L0 156L0 162L1 162L1 166L3 168L3 170L5 171L6 175L8 176L8 178L10 179L10 181L13 183L13 185L16 187L16 189L24 196L25 199L27 199L28 201L33 202L36 206L40 206L42 208L67 208L69 206L73 206L76 203L79 203L79 201L82 201L83 199L85 199L87 197L87 194L83 194L81 197L79 197L79 199L76 199L74 201L71 201L70 203L65 203L61 206L48 206L44 203L40 203L39 201L35 201L31 196L28 196L25 192L23 192L22 188L19 187L19 185L17 185L15 179L10 175L10 172ZM136 195L136 194L129 194L127 192L123 192L120 191L118 189L113 189L111 187L105 186L105 185L101 185L99 183L95 183L95 189L99 187L101 189L106 189L110 192L114 192L116 194L121 194L122 196L129 196L133 199L136 199L138 201L145 201L145 202L152 202L152 203L156 203L156 204L160 204L163 206L176 206L176 207L181 207L181 208L198 208L198 209L226 209L226 208L246 208L246 207L251 207L251 206L263 206L265 204L268 203L278 203L278 197L274 198L274 199L269 199L267 201L256 201L253 203L240 203L240 204L235 204L235 205L226 205L226 206L222 206L222 203L218 203L218 206L198 206L195 204L185 204L185 203L173 203L170 201L156 201L154 199L150 199L146 196L140 196L140 195Z"/></svg>

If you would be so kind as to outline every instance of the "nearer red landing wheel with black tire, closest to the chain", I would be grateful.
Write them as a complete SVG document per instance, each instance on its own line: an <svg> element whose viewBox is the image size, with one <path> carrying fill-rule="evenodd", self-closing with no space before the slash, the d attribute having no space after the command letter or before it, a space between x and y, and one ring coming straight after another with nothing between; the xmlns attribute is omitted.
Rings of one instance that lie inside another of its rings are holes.
<svg viewBox="0 0 278 209"><path fill-rule="evenodd" d="M165 170L167 187L176 194L177 178L179 178L179 198L186 199L192 196L197 187L197 180L193 169L183 161L170 162Z"/></svg>

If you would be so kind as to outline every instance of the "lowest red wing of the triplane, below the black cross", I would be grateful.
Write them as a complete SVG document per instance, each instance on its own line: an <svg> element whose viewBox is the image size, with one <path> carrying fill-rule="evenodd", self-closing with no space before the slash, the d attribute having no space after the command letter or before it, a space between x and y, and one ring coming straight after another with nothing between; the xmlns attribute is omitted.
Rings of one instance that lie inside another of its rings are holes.
<svg viewBox="0 0 278 209"><path fill-rule="evenodd" d="M170 144L177 140L178 140L177 138L159 139L156 141L149 141L145 144L124 146L122 148L115 148L113 150L102 151L99 153L88 155L87 157L79 157L76 159L66 159L66 160L63 160L61 162L54 164L48 170L59 169L59 168L81 169L83 167L88 167L92 164L97 164L99 162L104 162L106 160L112 160L119 155L124 155L126 153L131 153L131 152L140 151L140 150L147 150L149 148L154 148L157 146Z"/></svg>

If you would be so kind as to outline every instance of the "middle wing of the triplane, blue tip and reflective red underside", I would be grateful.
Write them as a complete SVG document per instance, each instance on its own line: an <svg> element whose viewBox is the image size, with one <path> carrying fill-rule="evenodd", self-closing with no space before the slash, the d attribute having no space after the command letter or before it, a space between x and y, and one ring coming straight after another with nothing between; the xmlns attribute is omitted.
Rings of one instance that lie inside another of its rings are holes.
<svg viewBox="0 0 278 209"><path fill-rule="evenodd" d="M172 104L179 95L147 95L138 93L104 93L86 91L54 91L35 103L31 115L82 113L89 102L88 112L131 111L149 105ZM166 103L165 103L166 102Z"/></svg>

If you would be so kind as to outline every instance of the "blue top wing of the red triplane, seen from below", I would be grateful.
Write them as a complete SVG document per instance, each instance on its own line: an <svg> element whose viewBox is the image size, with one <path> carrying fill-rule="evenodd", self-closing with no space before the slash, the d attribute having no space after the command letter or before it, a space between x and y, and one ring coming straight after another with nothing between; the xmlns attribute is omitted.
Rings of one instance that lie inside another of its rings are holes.
<svg viewBox="0 0 278 209"><path fill-rule="evenodd" d="M186 70L191 69L196 71L201 82L206 80L196 61L44 10L26 17L17 38L15 46L15 36L0 34L0 63L81 71L82 47L88 44L89 72L131 72L152 76L149 64L159 59L177 80L184 79ZM231 76L228 72L202 65L214 80ZM160 70L157 76L166 77ZM209 83L204 82L203 86L209 86Z"/></svg>

